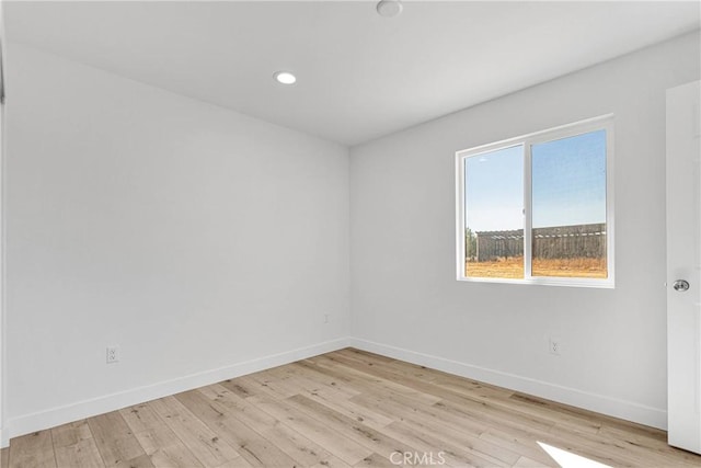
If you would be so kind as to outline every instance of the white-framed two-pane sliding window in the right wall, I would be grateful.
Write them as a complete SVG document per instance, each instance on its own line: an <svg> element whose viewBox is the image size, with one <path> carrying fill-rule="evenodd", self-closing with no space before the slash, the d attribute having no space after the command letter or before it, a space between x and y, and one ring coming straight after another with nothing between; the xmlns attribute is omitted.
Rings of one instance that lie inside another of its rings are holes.
<svg viewBox="0 0 701 468"><path fill-rule="evenodd" d="M611 116L458 151L458 279L613 287Z"/></svg>

